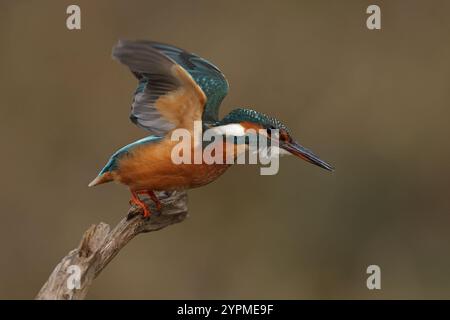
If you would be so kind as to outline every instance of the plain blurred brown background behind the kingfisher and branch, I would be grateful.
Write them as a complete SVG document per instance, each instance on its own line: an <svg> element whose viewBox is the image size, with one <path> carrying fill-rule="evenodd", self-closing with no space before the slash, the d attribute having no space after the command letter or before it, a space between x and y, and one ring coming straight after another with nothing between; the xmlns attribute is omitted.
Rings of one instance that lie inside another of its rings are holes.
<svg viewBox="0 0 450 320"><path fill-rule="evenodd" d="M80 5L82 30L66 29ZM382 29L365 26L378 4ZM449 298L448 1L0 1L0 298L33 298L128 191L87 188L146 135L120 38L213 61L230 93L286 122L337 170L236 166L189 191L190 218L133 240L91 299ZM366 288L377 264L382 289Z"/></svg>

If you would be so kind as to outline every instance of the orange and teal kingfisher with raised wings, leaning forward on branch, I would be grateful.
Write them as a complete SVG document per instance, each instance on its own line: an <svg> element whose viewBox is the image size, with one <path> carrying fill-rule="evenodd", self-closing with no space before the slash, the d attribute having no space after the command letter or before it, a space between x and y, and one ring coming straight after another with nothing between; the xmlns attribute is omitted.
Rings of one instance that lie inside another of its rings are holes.
<svg viewBox="0 0 450 320"><path fill-rule="evenodd" d="M262 130L268 139L277 139L279 153L292 154L333 171L330 164L297 143L288 127L271 116L237 108L219 119L228 81L214 64L202 57L172 45L130 40L120 40L112 56L137 78L130 120L150 135L116 151L89 187L110 181L126 185L131 191L130 203L140 207L144 217L152 212L142 196L148 196L160 211L162 204L154 191L204 186L231 166L227 162L174 163L171 154L177 142L171 139L171 134L185 129L194 135L194 123L198 121L202 129L237 136L250 129ZM278 131L272 136L274 130ZM230 143L236 147L238 142L224 140L224 144Z"/></svg>

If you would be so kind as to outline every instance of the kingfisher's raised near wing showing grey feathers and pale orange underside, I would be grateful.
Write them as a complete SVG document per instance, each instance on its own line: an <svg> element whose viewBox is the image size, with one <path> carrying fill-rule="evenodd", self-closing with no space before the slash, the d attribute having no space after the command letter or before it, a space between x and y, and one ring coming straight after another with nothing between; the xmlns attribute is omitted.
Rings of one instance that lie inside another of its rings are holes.
<svg viewBox="0 0 450 320"><path fill-rule="evenodd" d="M133 123L162 136L174 128L191 129L201 120L205 93L176 61L147 41L121 40L113 57L139 80L131 106Z"/></svg>

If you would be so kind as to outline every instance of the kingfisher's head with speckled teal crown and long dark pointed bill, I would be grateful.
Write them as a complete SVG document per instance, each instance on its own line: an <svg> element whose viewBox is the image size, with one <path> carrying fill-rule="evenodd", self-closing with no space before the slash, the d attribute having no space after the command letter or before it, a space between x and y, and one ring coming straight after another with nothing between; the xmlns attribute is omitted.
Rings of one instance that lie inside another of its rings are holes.
<svg viewBox="0 0 450 320"><path fill-rule="evenodd" d="M244 108L235 109L225 116L218 125L234 126L232 130L234 132L240 131L245 133L247 130L253 129L257 133L266 136L268 140L278 140L280 153L292 154L328 171L334 170L330 164L296 142L292 138L289 129L281 121L258 111ZM278 130L278 137L272 134L274 129Z"/></svg>

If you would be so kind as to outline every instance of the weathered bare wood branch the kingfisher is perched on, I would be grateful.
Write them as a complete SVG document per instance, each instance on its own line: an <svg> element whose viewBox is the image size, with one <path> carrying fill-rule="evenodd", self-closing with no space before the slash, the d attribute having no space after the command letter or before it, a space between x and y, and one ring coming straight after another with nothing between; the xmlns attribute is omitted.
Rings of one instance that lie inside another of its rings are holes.
<svg viewBox="0 0 450 320"><path fill-rule="evenodd" d="M162 212L156 214L154 204L148 202L155 212L149 219L142 217L140 209L131 207L127 217L112 230L103 222L92 225L84 233L78 248L70 251L56 266L36 299L84 299L93 280L131 239L186 218L186 192L159 192L157 196L163 204Z"/></svg>

